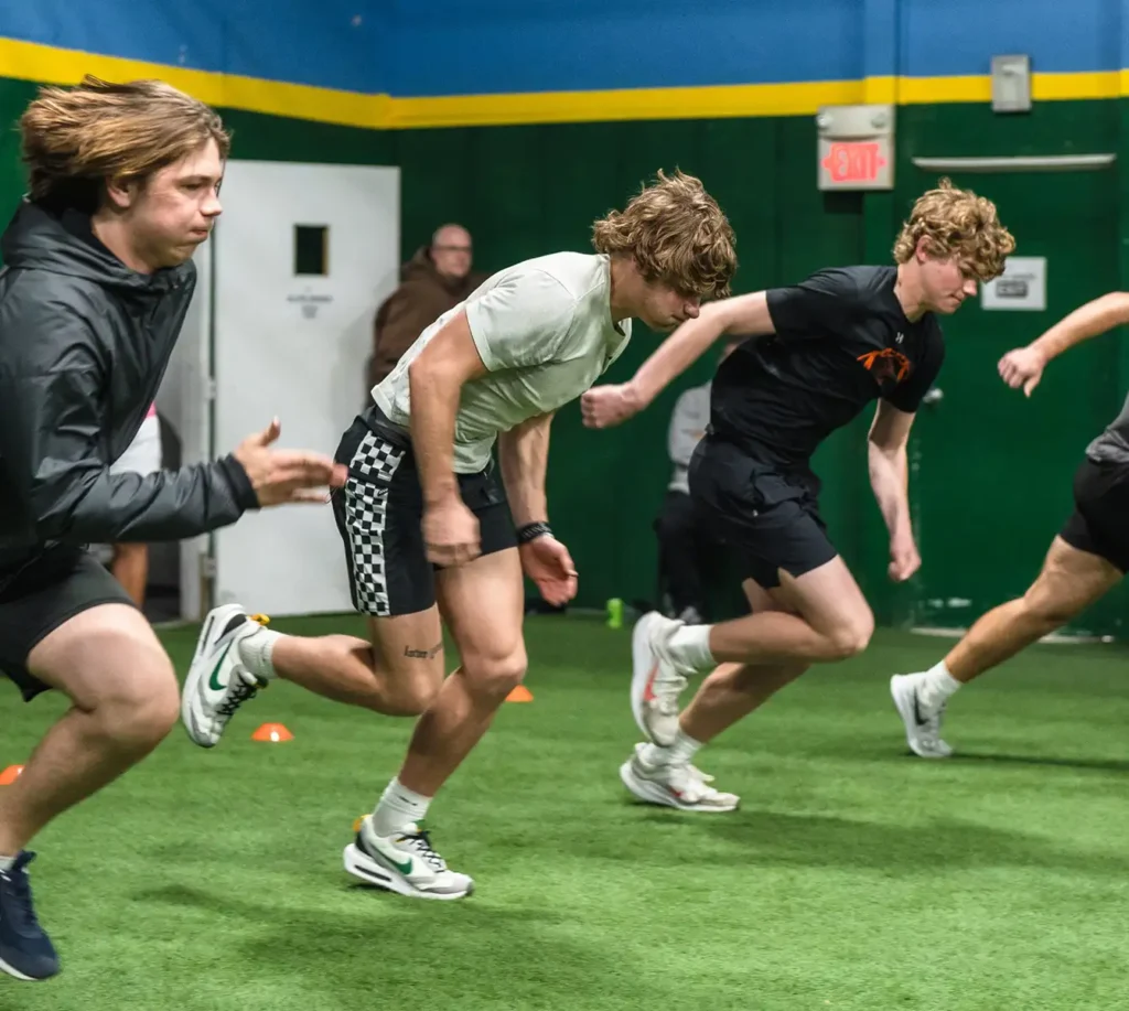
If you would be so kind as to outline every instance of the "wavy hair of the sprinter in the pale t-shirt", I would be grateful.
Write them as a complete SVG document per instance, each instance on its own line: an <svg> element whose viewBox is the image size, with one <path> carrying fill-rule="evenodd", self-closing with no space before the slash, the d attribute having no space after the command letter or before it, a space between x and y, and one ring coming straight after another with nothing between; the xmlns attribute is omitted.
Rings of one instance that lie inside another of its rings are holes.
<svg viewBox="0 0 1129 1011"><path fill-rule="evenodd" d="M592 226L597 253L631 256L647 281L703 299L725 298L737 270L736 237L700 179L662 169L622 211Z"/></svg>

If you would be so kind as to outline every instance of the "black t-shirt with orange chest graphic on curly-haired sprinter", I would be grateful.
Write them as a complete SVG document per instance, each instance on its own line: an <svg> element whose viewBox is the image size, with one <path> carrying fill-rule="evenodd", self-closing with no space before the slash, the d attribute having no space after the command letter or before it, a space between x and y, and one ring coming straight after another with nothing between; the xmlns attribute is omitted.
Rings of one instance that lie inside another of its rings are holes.
<svg viewBox="0 0 1129 1011"><path fill-rule="evenodd" d="M751 337L721 362L712 431L782 467L806 467L831 432L883 397L913 413L945 358L931 313L911 323L894 294L898 270L820 271L768 291L776 333Z"/></svg>

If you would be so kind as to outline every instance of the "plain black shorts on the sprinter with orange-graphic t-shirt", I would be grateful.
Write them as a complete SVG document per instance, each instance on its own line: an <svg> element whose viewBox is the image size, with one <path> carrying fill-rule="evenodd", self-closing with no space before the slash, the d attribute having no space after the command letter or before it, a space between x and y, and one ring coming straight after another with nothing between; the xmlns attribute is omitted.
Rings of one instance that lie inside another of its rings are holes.
<svg viewBox="0 0 1129 1011"><path fill-rule="evenodd" d="M781 569L803 575L839 554L828 539L819 493L811 471L781 471L715 436L702 439L690 460L698 521L764 589L780 584Z"/></svg>

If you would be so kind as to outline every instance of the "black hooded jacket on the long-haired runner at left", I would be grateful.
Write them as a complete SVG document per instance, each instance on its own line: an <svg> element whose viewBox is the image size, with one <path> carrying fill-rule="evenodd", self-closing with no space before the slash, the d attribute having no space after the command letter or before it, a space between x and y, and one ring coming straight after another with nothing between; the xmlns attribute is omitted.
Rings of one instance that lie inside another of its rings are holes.
<svg viewBox="0 0 1129 1011"><path fill-rule="evenodd" d="M88 216L25 201L0 238L0 589L54 545L178 540L259 502L234 457L111 474L157 395L195 288L141 274Z"/></svg>

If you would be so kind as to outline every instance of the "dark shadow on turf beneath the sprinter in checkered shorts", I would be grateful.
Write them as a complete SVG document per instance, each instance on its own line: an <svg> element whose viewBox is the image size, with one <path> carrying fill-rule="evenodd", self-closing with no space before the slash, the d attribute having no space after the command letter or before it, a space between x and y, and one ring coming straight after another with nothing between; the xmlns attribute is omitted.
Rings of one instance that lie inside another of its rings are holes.
<svg viewBox="0 0 1129 1011"><path fill-rule="evenodd" d="M357 904L342 908L342 891ZM571 917L539 906L532 895L520 906L498 906L473 897L421 902L345 885L331 888L327 907L317 909L172 885L134 898L237 921L242 937L226 953L250 978L292 978L335 1008L364 1006L374 997L388 1006L409 1000L440 1008L590 1006L609 985L636 985L639 973L622 951L586 940ZM674 1006L676 996L673 986L646 986L648 1003Z"/></svg>

